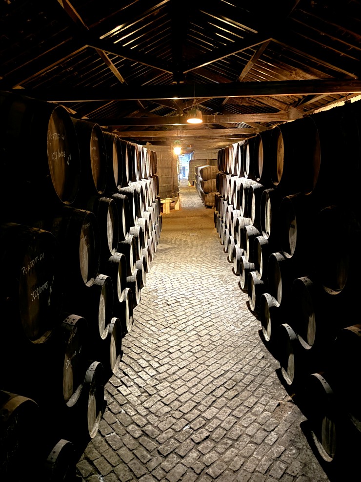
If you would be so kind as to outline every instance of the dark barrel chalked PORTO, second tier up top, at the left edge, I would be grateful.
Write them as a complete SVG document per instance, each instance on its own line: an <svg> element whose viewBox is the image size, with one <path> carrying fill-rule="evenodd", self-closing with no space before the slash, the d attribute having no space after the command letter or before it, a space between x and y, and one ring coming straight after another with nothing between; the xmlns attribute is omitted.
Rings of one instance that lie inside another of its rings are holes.
<svg viewBox="0 0 361 482"><path fill-rule="evenodd" d="M9 340L42 343L59 324L62 305L59 244L49 232L16 223L0 226L0 307L11 316L3 323L1 350ZM22 349L22 348L20 348Z"/></svg>

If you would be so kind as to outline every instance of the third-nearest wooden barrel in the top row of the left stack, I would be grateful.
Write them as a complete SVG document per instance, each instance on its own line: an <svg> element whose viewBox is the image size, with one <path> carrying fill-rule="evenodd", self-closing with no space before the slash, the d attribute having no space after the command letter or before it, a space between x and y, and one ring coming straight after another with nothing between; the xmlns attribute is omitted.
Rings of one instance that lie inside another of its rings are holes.
<svg viewBox="0 0 361 482"><path fill-rule="evenodd" d="M107 177L104 195L110 196L117 192L118 186L121 187L123 181L123 170L121 168L121 160L118 156L121 155L120 140L116 134L106 132L103 130L106 163L107 163Z"/></svg>

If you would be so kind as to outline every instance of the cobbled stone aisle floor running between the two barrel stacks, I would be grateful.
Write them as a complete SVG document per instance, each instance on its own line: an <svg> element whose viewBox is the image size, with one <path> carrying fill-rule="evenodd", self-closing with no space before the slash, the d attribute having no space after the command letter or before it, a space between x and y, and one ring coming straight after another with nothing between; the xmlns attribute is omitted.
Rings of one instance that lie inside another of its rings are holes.
<svg viewBox="0 0 361 482"><path fill-rule="evenodd" d="M163 231L98 435L87 482L328 481L194 187Z"/></svg>

